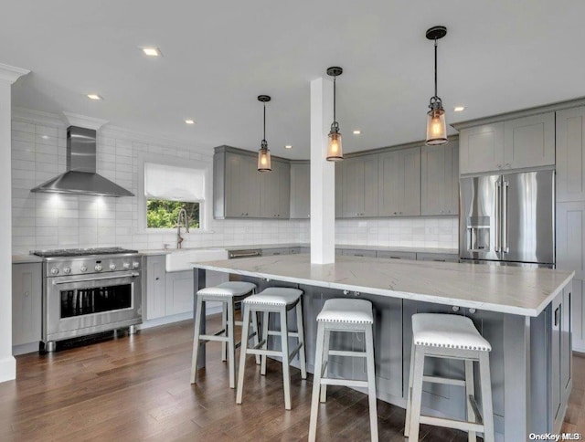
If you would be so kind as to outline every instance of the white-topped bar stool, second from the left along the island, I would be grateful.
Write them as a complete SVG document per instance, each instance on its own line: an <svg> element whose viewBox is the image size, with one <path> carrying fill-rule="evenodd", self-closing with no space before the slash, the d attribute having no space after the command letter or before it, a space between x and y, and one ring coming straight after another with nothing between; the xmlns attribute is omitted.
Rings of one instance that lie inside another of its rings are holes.
<svg viewBox="0 0 585 442"><path fill-rule="evenodd" d="M307 378L306 361L304 358L304 332L303 332L303 290L290 289L284 287L270 287L264 289L261 293L251 295L243 300L244 313L242 315L243 328L242 336L248 335L250 327L250 315L252 312L262 312L262 340L256 342L251 348L248 347L248 341L241 340L241 349L239 353L239 374L238 389L236 394L236 404L241 404L243 387L244 387L244 369L246 365L246 355L261 355L261 374L266 374L266 357L282 357L282 382L284 384L284 408L291 409L291 371L289 365L293 358L298 354L301 363L301 377ZM287 311L296 308L296 325L297 332L290 332L288 329ZM270 313L280 313L281 331L270 331L268 320ZM255 322L254 317L252 322ZM268 349L269 335L281 336L281 351ZM293 352L289 353L289 337L296 337L297 346Z"/></svg>

